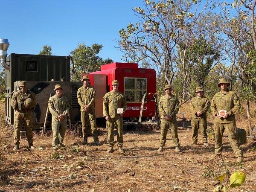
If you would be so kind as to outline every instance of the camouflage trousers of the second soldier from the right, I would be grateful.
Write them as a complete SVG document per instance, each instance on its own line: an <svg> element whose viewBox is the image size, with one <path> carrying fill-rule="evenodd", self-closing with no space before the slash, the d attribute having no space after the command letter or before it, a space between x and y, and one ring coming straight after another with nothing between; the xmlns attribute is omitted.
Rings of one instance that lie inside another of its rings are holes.
<svg viewBox="0 0 256 192"><path fill-rule="evenodd" d="M197 143L198 142L198 129L201 130L201 137L202 142L207 143L207 120L206 118L192 118L191 120L191 126L192 126L192 142Z"/></svg>

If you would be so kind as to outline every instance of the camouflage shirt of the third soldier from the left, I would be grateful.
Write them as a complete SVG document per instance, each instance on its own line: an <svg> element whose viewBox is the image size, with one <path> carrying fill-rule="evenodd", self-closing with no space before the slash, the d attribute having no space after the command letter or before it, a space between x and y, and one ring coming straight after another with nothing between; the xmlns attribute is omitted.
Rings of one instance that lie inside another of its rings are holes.
<svg viewBox="0 0 256 192"><path fill-rule="evenodd" d="M94 102L95 102L95 94L96 90L93 87L88 85L88 87L84 88L84 86L80 87L77 91L77 100L79 105L81 106L81 111L84 110L84 105L90 105L90 110L94 110Z"/></svg>

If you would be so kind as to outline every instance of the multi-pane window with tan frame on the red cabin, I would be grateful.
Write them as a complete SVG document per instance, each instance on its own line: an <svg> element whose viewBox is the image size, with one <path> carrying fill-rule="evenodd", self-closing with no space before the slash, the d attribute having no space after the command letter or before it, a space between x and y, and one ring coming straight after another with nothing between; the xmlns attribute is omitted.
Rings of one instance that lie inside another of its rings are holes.
<svg viewBox="0 0 256 192"><path fill-rule="evenodd" d="M147 80L147 78L125 77L124 92L127 102L142 102L144 94L147 93Z"/></svg>

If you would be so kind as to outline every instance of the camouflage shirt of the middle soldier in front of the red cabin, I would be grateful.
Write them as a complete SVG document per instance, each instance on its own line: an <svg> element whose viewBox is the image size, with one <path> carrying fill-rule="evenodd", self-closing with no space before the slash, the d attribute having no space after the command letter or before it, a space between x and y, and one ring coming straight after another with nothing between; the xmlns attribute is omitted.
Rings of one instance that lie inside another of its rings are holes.
<svg viewBox="0 0 256 192"><path fill-rule="evenodd" d="M126 98L120 91L114 93L113 90L111 90L103 97L103 116L122 118L122 115L117 114L117 108L124 108L123 113L125 113L127 108Z"/></svg>

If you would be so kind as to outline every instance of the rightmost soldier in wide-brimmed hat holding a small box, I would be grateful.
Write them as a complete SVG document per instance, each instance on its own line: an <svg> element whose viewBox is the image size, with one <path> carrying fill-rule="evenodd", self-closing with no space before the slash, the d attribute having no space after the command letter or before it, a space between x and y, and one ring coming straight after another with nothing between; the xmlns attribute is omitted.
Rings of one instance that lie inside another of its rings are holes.
<svg viewBox="0 0 256 192"><path fill-rule="evenodd" d="M215 115L214 128L215 128L215 154L221 157L222 152L222 137L224 130L227 132L230 140L230 145L236 153L237 162L241 162L242 152L238 143L236 132L235 113L240 109L240 100L234 91L229 90L227 87L230 83L222 78L218 83L221 91L216 93L212 99L211 111ZM227 111L224 116L220 116L219 111Z"/></svg>

